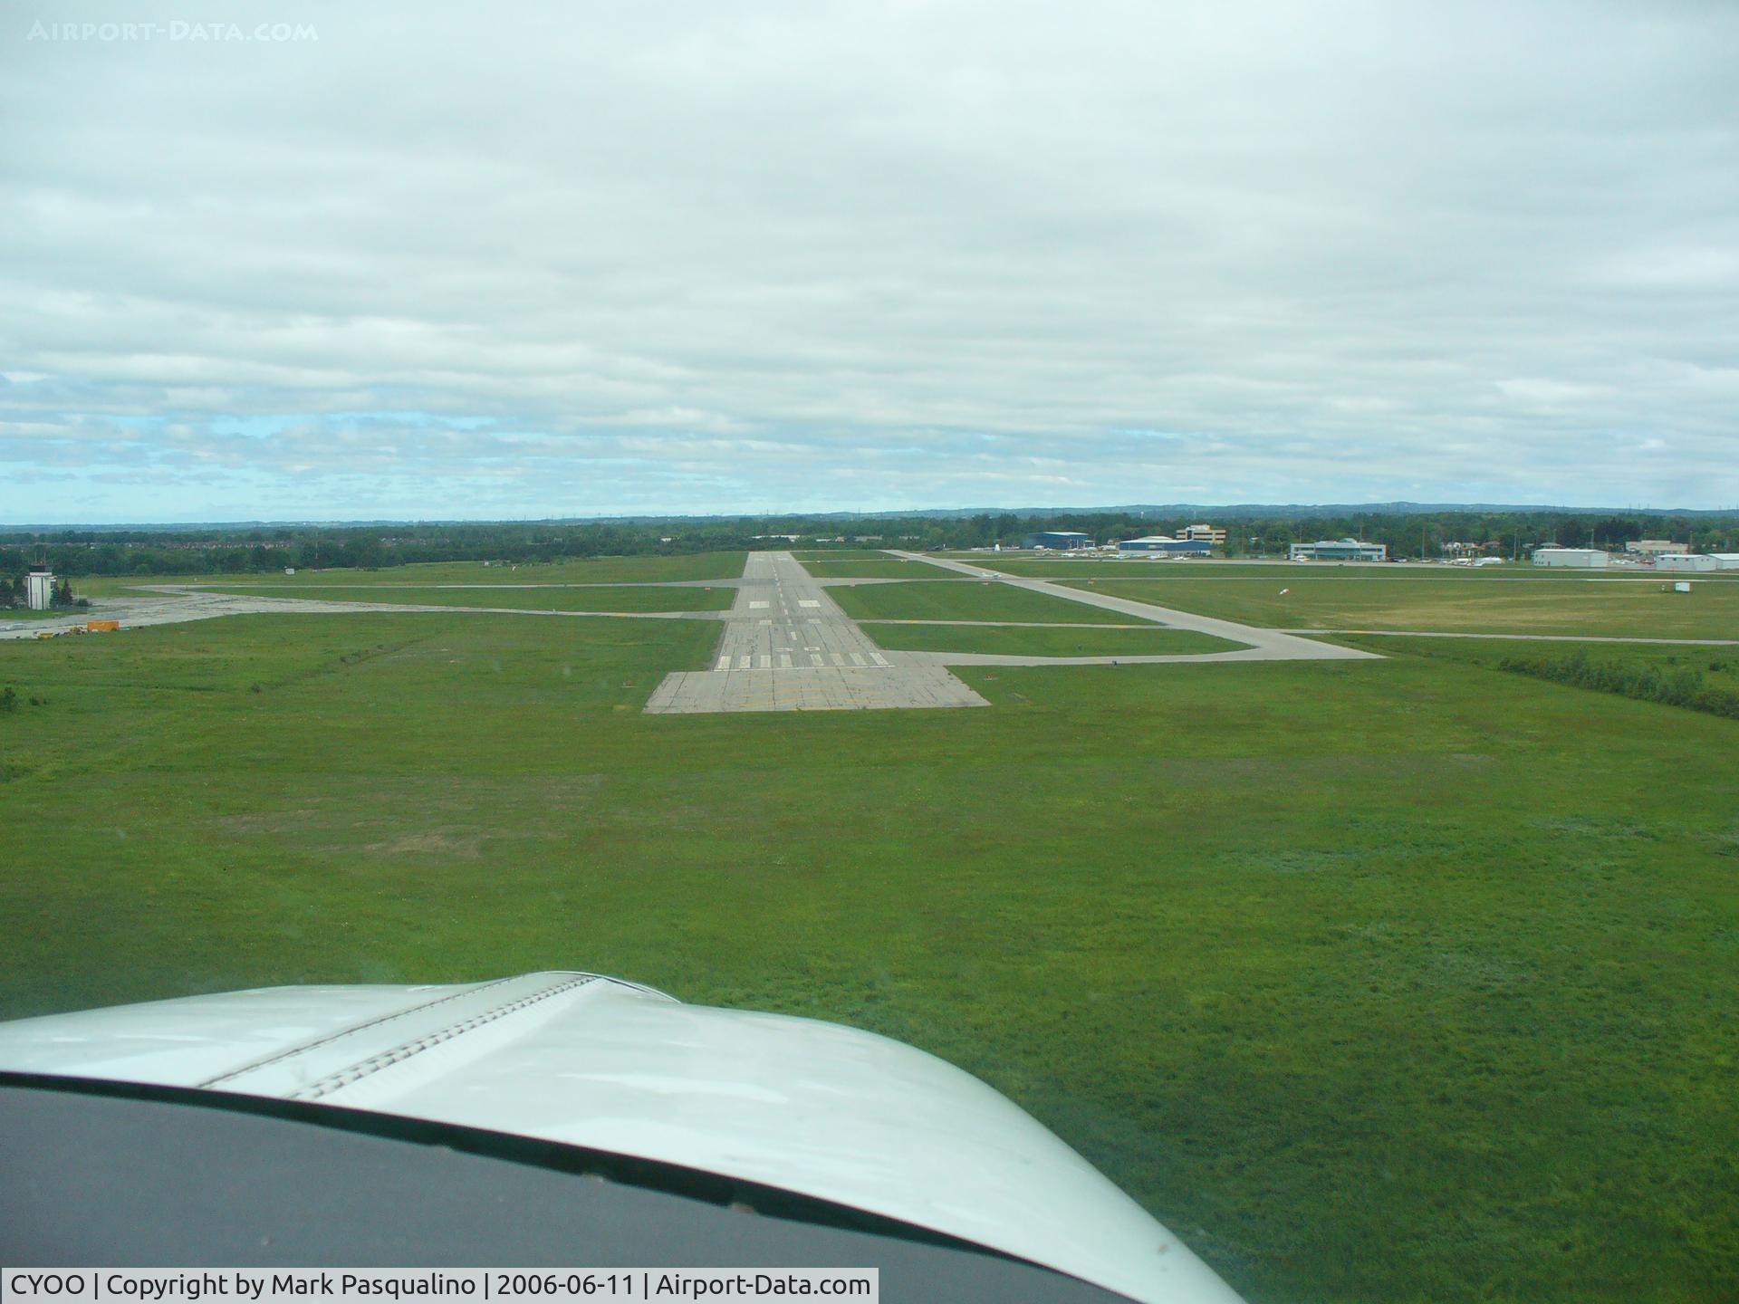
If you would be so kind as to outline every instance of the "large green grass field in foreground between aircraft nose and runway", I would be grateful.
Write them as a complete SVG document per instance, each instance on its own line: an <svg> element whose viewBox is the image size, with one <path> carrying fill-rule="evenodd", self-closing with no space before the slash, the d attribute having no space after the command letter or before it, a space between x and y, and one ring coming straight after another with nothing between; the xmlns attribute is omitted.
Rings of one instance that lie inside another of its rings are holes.
<svg viewBox="0 0 1739 1304"><path fill-rule="evenodd" d="M715 636L0 645L0 1014L596 968L963 1064L1257 1302L1732 1299L1734 722L1447 640L642 715Z"/></svg>

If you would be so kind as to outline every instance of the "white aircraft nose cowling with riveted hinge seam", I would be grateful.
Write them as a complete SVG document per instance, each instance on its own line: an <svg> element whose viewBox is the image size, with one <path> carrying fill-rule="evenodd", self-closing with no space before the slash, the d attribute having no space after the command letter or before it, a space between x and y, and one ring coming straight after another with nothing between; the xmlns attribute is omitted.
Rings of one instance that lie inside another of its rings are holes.
<svg viewBox="0 0 1739 1304"><path fill-rule="evenodd" d="M23 1019L0 1024L0 1069L541 1137L901 1219L1146 1304L1238 1301L1080 1154L951 1064L596 974L264 988Z"/></svg>

